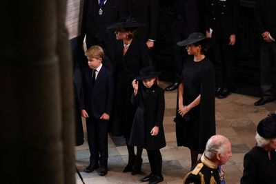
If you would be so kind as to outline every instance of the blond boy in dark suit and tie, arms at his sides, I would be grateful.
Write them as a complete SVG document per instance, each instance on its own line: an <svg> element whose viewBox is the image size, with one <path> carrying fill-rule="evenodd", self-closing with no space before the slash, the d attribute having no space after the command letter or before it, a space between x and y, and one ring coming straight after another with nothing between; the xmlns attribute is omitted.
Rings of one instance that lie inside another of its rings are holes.
<svg viewBox="0 0 276 184"><path fill-rule="evenodd" d="M81 116L86 118L90 165L85 172L99 168L99 175L108 172L108 121L113 100L113 76L101 62L104 52L94 45L86 52L88 66L83 72Z"/></svg>

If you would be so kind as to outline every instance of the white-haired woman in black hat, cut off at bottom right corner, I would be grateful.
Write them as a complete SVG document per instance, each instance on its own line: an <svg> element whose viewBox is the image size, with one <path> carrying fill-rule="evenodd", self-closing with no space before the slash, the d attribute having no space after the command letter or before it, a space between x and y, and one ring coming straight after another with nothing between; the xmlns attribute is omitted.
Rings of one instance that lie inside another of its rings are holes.
<svg viewBox="0 0 276 184"><path fill-rule="evenodd" d="M255 136L257 146L244 156L241 184L275 184L276 174L276 114L259 122Z"/></svg>

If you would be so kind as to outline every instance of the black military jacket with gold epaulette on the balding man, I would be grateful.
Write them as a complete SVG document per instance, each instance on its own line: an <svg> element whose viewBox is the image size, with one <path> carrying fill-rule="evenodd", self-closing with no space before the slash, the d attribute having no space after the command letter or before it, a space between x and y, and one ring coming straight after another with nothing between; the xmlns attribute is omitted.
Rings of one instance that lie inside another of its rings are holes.
<svg viewBox="0 0 276 184"><path fill-rule="evenodd" d="M209 161L204 154L193 169L184 177L184 184L219 184L219 171L217 165Z"/></svg>

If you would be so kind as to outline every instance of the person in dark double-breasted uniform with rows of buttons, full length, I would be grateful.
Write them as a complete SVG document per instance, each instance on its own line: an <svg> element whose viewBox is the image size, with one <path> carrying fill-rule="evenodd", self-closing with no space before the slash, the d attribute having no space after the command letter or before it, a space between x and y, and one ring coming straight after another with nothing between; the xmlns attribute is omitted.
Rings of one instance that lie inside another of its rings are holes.
<svg viewBox="0 0 276 184"><path fill-rule="evenodd" d="M218 99L224 99L233 88L239 0L208 0L205 17L206 37L212 37L214 42L216 96Z"/></svg>

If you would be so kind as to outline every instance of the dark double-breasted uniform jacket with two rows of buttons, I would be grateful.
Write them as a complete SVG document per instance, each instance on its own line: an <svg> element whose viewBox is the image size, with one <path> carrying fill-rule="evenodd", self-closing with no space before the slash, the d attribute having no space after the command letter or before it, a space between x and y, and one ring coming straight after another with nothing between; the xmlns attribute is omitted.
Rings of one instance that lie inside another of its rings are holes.
<svg viewBox="0 0 276 184"><path fill-rule="evenodd" d="M212 37L229 39L237 34L239 0L207 0L206 30L213 29Z"/></svg>

